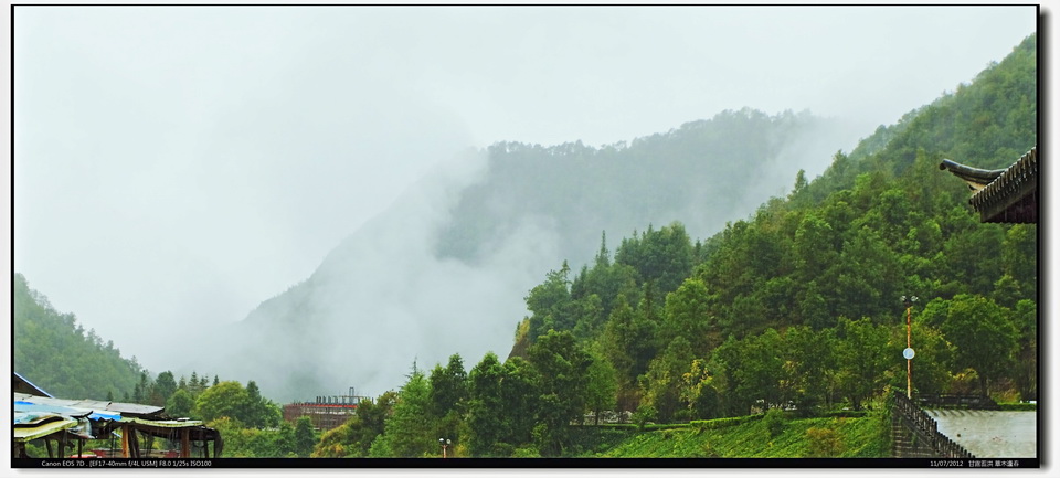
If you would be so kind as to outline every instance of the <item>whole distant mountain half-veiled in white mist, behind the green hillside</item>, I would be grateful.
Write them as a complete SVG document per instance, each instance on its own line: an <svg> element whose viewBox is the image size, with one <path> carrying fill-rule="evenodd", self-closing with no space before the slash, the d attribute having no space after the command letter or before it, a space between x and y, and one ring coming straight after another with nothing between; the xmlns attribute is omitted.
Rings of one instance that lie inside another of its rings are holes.
<svg viewBox="0 0 1060 478"><path fill-rule="evenodd" d="M287 401L379 394L414 364L506 353L523 297L601 234L681 221L712 234L822 170L846 140L808 113L724 111L630 142L499 142L439 166L342 241L317 270L220 327L223 359L194 369L256 380ZM230 353L232 352L232 353Z"/></svg>

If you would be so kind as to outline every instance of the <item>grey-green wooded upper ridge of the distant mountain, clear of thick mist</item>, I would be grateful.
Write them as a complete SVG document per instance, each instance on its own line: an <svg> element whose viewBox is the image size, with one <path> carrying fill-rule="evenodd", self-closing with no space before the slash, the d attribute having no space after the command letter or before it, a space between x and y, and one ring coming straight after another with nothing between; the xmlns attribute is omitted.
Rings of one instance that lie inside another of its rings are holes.
<svg viewBox="0 0 1060 478"><path fill-rule="evenodd" d="M580 263L604 230L627 234L679 219L713 233L786 189L795 164L824 169L824 155L847 132L808 111L744 108L600 148L499 142L488 148L486 177L460 194L438 254L481 261L500 246L494 238L528 217L556 233L560 257Z"/></svg>

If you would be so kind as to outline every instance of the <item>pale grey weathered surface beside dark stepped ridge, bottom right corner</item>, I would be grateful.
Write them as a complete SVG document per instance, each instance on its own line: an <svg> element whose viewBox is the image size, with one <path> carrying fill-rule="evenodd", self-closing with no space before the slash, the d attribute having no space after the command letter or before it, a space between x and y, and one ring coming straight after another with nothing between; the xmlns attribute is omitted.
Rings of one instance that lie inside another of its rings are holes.
<svg viewBox="0 0 1060 478"><path fill-rule="evenodd" d="M976 458L1036 458L1036 412L992 410L925 410L939 422L939 432Z"/></svg>

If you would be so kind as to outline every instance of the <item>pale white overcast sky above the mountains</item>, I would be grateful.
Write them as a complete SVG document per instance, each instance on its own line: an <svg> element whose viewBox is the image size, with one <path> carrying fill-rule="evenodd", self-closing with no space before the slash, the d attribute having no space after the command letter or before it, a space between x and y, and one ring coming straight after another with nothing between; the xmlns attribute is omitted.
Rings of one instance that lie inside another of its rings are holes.
<svg viewBox="0 0 1060 478"><path fill-rule="evenodd" d="M243 319L463 148L745 106L867 136L1000 61L1035 13L20 7L13 268L158 372L138 338Z"/></svg>

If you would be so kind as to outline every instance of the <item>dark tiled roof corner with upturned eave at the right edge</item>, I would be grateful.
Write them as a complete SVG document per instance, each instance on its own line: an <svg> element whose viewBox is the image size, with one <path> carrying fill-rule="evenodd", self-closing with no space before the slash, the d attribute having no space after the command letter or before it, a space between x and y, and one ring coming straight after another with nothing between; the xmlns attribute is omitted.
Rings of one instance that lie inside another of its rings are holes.
<svg viewBox="0 0 1060 478"><path fill-rule="evenodd" d="M968 203L982 222L1038 222L1038 147L1006 169L985 170L945 159L939 169L950 170L972 189Z"/></svg>

